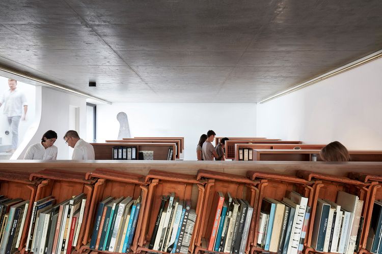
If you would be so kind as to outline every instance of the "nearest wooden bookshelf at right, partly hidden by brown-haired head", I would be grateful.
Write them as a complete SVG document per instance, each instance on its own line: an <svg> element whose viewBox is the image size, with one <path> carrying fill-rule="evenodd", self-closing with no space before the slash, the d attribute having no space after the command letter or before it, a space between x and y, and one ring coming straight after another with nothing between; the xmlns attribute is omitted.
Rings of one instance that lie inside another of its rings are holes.
<svg viewBox="0 0 382 254"><path fill-rule="evenodd" d="M255 149L254 161L311 161L312 154L317 154L317 161L322 161L320 150L280 150ZM352 162L381 162L382 150L349 150Z"/></svg>

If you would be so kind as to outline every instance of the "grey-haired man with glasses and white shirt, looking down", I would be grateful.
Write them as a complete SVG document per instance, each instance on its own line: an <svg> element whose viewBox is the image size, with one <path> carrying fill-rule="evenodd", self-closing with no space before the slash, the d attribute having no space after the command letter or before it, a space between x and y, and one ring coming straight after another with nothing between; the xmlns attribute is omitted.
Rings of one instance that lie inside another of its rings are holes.
<svg viewBox="0 0 382 254"><path fill-rule="evenodd" d="M80 139L76 131L67 131L64 140L68 146L74 148L72 160L94 160L93 146Z"/></svg>

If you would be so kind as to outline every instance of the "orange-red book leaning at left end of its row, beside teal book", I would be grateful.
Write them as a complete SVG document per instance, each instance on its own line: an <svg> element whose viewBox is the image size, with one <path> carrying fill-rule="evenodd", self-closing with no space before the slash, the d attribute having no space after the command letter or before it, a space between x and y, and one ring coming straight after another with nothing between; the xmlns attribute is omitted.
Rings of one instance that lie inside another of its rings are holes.
<svg viewBox="0 0 382 254"><path fill-rule="evenodd" d="M224 203L223 193L216 192L216 195L212 201L210 219L208 220L207 231L206 231L207 234L211 232L210 238L206 239L208 241L208 250L213 250L213 245L215 243L215 238L217 234L217 228L219 227L220 216L223 209L223 203ZM215 216L212 217L212 215L215 215ZM208 237L208 235L206 236Z"/></svg>

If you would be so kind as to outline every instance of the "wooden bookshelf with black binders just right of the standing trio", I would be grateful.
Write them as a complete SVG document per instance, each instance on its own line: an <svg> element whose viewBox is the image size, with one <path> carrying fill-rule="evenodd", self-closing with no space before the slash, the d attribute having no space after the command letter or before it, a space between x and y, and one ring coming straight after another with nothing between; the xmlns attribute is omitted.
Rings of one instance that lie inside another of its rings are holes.
<svg viewBox="0 0 382 254"><path fill-rule="evenodd" d="M235 156L233 157L236 161L239 159L239 149L240 148L251 148L256 150L264 149L278 149L278 150L291 150L295 147L299 147L303 150L317 150L321 149L325 145L309 145L309 144L235 144ZM294 150L294 149L293 149ZM231 157L229 157L231 158Z"/></svg>

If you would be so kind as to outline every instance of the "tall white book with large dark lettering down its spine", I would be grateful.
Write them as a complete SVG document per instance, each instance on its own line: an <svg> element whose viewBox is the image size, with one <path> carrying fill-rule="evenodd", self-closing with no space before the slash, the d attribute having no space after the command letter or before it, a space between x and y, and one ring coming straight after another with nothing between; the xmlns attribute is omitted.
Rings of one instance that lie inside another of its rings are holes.
<svg viewBox="0 0 382 254"><path fill-rule="evenodd" d="M293 238L293 243L297 242L297 248L295 248L295 244L292 244L291 254L297 254L298 245L301 238L301 232L303 230L303 225L304 225L305 212L307 211L307 206L308 206L308 198L305 198L301 194L293 191L293 192L290 192L289 199L299 205L298 210L296 209L296 214L297 214L296 225L294 226L293 235L291 235L291 238Z"/></svg>

